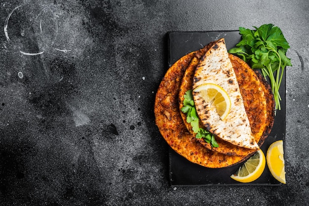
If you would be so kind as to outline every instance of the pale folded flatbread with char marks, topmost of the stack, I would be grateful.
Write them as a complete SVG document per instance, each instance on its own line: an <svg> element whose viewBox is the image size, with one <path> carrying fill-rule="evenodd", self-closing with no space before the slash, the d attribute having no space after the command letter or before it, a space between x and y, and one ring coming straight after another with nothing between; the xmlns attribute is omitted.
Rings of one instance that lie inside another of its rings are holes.
<svg viewBox="0 0 309 206"><path fill-rule="evenodd" d="M232 107L225 120L220 119L215 107L211 107L211 104L205 102L198 92L194 92L197 86L204 83L215 83L228 93ZM259 149L251 131L224 39L214 43L199 61L193 77L193 98L196 112L208 131L233 145Z"/></svg>

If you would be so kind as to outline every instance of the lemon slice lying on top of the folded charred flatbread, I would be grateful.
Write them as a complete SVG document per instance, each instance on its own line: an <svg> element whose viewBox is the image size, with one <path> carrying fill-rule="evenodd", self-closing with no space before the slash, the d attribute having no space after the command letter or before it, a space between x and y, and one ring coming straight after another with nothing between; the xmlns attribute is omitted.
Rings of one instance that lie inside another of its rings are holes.
<svg viewBox="0 0 309 206"><path fill-rule="evenodd" d="M205 102L212 102L211 105L216 107L221 120L225 120L228 117L231 110L231 99L224 88L218 84L204 83L197 86L193 91L199 92L199 96Z"/></svg>

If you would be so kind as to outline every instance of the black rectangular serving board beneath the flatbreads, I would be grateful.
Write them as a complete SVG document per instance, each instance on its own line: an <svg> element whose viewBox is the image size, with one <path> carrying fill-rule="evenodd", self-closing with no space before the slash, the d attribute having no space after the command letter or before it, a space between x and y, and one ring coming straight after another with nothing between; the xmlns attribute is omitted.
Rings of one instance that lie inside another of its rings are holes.
<svg viewBox="0 0 309 206"><path fill-rule="evenodd" d="M167 38L169 66L185 54L198 50L211 41L225 38L227 49L230 49L241 40L238 31L169 32ZM283 140L283 147L285 146L285 72L279 92L282 98L281 110L277 110L270 135L261 147L265 155L270 144L274 141ZM169 148L169 184L171 186L281 185L272 177L267 164L263 174L251 183L239 183L233 180L230 176L241 164L243 163L225 168L207 168L193 164Z"/></svg>

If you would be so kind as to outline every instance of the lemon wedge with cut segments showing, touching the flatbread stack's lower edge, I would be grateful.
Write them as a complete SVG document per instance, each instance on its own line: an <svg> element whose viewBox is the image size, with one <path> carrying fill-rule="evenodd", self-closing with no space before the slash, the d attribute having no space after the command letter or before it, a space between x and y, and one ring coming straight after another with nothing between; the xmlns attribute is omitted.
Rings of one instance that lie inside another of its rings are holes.
<svg viewBox="0 0 309 206"><path fill-rule="evenodd" d="M249 160L239 167L235 174L231 175L231 178L238 182L252 182L262 175L265 165L265 155L259 149Z"/></svg>

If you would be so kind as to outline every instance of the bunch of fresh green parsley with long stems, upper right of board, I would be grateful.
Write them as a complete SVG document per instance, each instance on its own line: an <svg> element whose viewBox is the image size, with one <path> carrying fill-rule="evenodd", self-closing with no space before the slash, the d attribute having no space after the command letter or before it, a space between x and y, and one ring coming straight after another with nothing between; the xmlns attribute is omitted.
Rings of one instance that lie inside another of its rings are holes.
<svg viewBox="0 0 309 206"><path fill-rule="evenodd" d="M265 78L269 77L272 93L275 100L275 109L280 110L279 87L286 66L292 66L291 60L286 57L290 47L281 30L273 24L264 24L256 30L239 27L241 41L229 53L237 54L252 69L261 69Z"/></svg>

